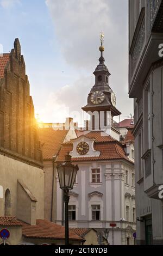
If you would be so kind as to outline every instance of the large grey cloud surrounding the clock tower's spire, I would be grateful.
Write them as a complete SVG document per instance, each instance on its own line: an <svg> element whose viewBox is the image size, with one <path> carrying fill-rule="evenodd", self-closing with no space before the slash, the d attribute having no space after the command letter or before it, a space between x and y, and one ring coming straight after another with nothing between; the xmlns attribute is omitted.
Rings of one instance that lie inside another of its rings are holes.
<svg viewBox="0 0 163 256"><path fill-rule="evenodd" d="M123 117L133 113L133 101L128 99L128 1L46 0L46 4L62 57L80 76L72 86L55 94L55 103L70 109L80 109L86 103L95 83L92 72L98 64L99 34L103 31L105 64L111 72L109 84L116 94L117 108Z"/></svg>

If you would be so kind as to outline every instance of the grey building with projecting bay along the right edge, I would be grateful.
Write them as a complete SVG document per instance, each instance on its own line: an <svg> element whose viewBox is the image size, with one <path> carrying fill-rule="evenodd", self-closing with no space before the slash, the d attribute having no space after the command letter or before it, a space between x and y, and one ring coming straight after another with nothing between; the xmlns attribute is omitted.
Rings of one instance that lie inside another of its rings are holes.
<svg viewBox="0 0 163 256"><path fill-rule="evenodd" d="M129 0L129 96L134 98L137 245L163 244L163 1Z"/></svg>

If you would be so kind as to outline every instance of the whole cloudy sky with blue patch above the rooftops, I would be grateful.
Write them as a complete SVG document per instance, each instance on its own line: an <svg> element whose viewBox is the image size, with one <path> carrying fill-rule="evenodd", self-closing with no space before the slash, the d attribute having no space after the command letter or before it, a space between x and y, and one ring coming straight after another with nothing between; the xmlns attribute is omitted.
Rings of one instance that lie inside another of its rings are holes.
<svg viewBox="0 0 163 256"><path fill-rule="evenodd" d="M121 120L133 114L128 97L128 0L0 0L0 45L19 38L35 114L47 123L82 124L81 107L95 84L103 31L109 85Z"/></svg>

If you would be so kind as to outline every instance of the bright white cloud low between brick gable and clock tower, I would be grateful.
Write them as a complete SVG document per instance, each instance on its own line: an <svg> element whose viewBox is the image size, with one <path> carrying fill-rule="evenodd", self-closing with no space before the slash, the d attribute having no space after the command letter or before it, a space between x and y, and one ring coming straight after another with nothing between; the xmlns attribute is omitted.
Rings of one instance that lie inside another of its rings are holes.
<svg viewBox="0 0 163 256"><path fill-rule="evenodd" d="M92 81L89 77L81 77L73 85L66 85L49 93L43 108L35 107L35 113L39 113L41 121L47 123L63 123L66 117L72 117L74 121L83 124L81 107L86 105L87 94L91 85Z"/></svg>

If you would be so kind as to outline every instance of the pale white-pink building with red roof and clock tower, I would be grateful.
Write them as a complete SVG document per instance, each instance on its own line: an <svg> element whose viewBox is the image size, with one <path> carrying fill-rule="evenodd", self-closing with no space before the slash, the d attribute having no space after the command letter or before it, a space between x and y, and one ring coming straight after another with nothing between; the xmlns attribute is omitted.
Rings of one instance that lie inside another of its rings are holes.
<svg viewBox="0 0 163 256"><path fill-rule="evenodd" d="M83 135L63 144L56 161L64 161L65 155L70 153L73 163L79 167L76 183L70 191L70 227L95 228L102 232L107 228L110 245L134 245L135 181L134 159L130 154L133 144L120 142L113 117L121 113L115 107L115 95L109 87L110 73L104 65L103 44L100 51L100 63L93 73L95 86L88 96L87 106L83 107L91 115L91 129L87 127ZM107 118L110 118L111 125L105 129L100 127L95 111L99 119L103 111L104 124L108 124ZM61 202L62 191L57 178L56 221L64 224Z"/></svg>

